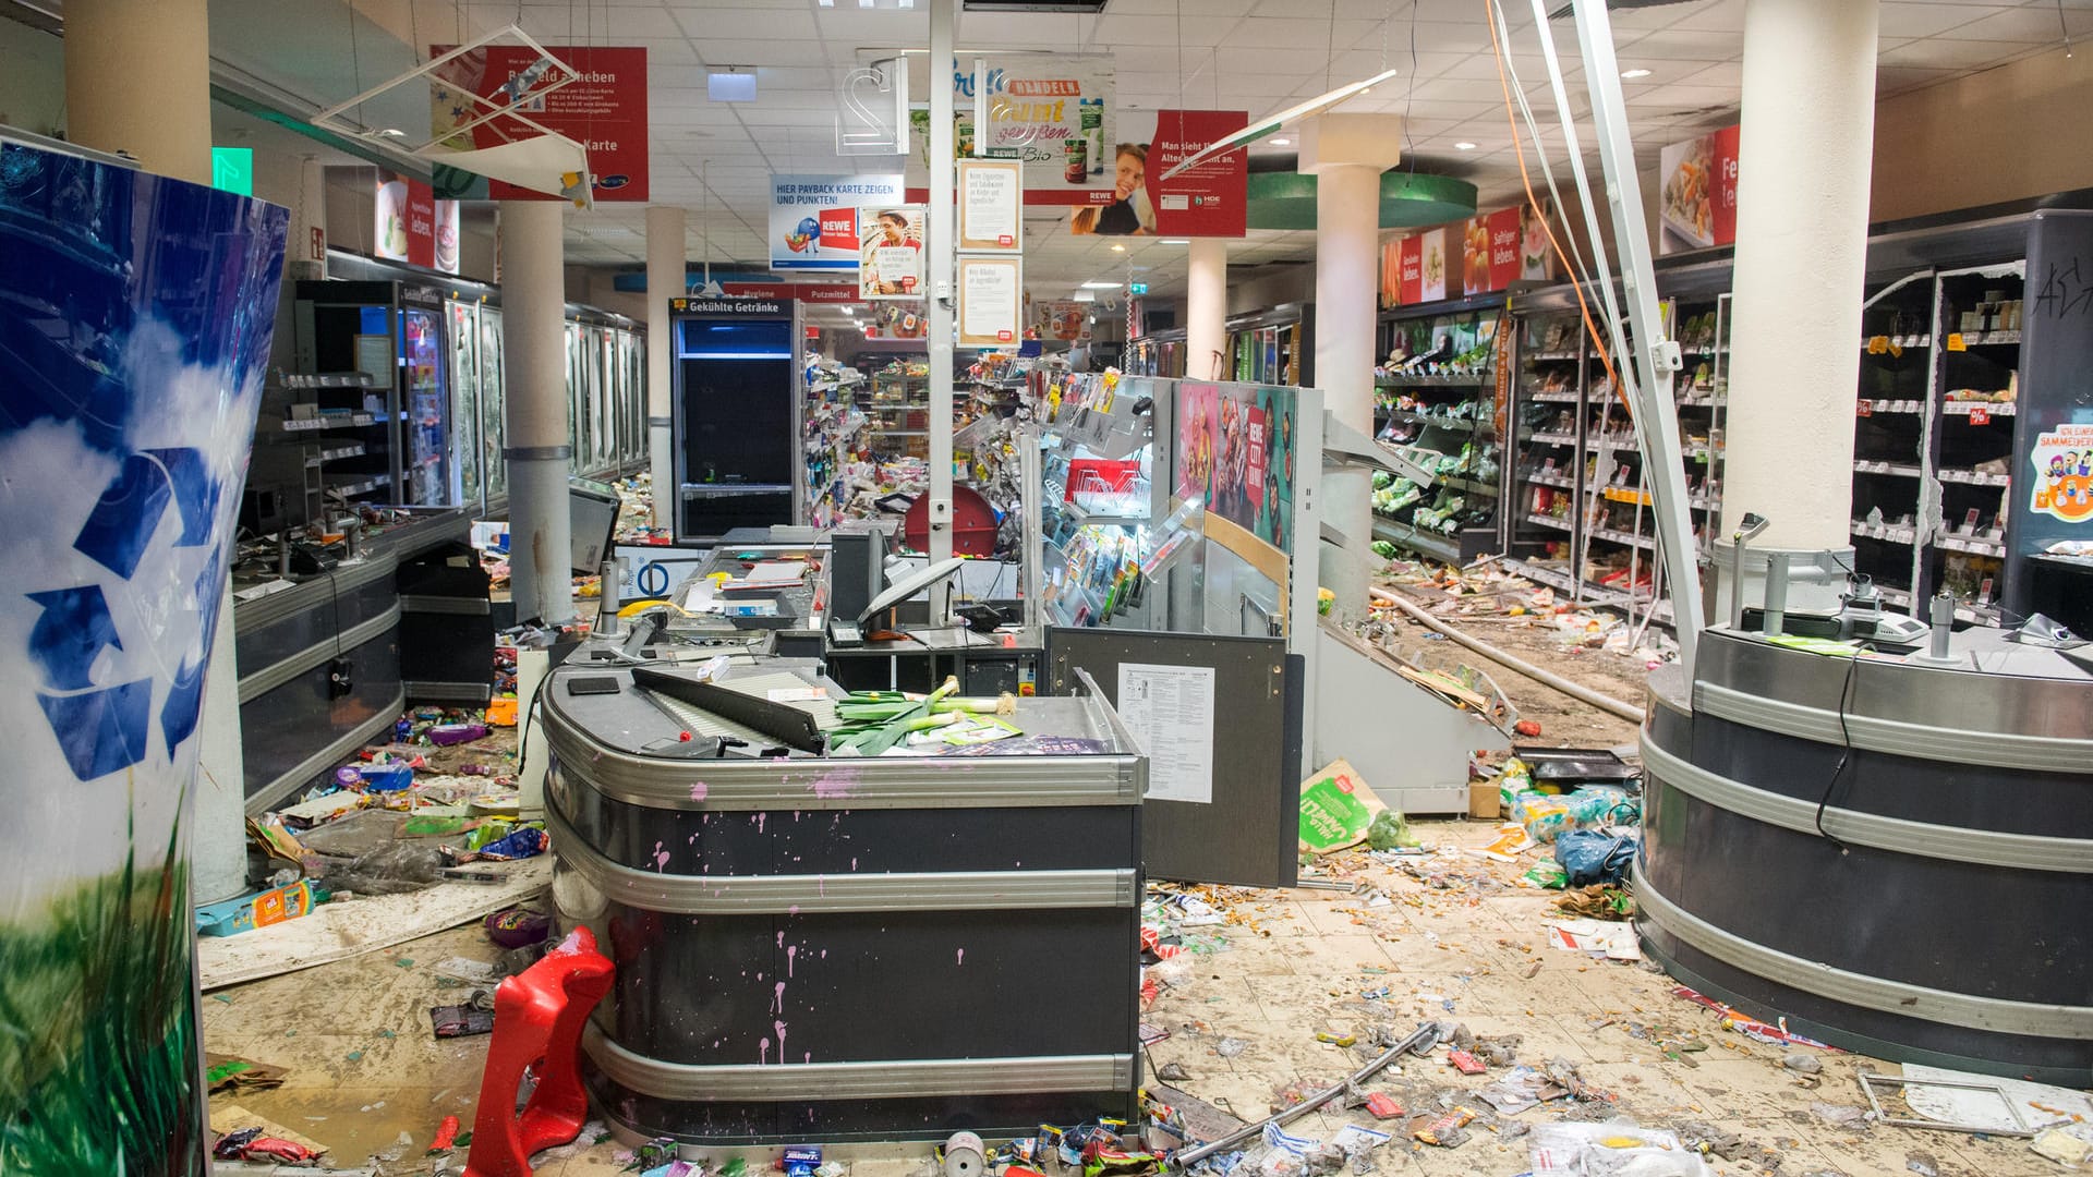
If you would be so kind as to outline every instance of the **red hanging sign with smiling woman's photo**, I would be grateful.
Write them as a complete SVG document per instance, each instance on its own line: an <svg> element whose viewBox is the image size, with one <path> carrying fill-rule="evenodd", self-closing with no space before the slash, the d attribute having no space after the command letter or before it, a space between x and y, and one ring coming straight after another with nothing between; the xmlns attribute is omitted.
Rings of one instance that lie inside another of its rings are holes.
<svg viewBox="0 0 2093 1177"><path fill-rule="evenodd" d="M1132 113L1120 117L1132 132ZM1070 232L1243 237L1247 230L1250 155L1229 151L1164 180L1164 172L1208 142L1226 138L1250 121L1245 111L1155 111L1147 140L1111 147L1088 203L1070 214Z"/></svg>

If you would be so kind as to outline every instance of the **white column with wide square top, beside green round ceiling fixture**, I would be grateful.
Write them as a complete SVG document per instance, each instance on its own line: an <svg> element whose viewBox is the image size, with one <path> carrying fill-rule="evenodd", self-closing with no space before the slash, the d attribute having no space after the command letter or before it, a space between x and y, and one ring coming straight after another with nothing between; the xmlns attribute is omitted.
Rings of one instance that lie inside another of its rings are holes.
<svg viewBox="0 0 2093 1177"><path fill-rule="evenodd" d="M1302 128L1300 170L1314 191L1314 383L1340 425L1373 434L1373 350L1381 310L1381 172L1398 163L1396 115L1321 115ZM1302 454L1321 461L1321 454ZM1323 586L1340 616L1367 609L1373 480L1365 467L1323 473L1323 526L1344 549L1319 545Z"/></svg>

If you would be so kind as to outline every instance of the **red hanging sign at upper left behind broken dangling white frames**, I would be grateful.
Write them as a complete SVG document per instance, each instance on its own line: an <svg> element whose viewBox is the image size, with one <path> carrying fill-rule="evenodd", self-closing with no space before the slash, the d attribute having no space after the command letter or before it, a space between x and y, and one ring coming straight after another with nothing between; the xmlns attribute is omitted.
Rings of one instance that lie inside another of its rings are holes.
<svg viewBox="0 0 2093 1177"><path fill-rule="evenodd" d="M454 46L433 44L429 57L442 57ZM594 199L599 201L647 201L647 50L611 46L546 46L546 52L573 67L580 77L527 101L521 113L550 132L580 142L588 151L588 174L592 176ZM481 109L463 98L458 90L507 103L513 86L527 86L542 73L538 50L521 44L490 44L440 65L429 84L429 130L435 140L452 149L490 149L517 138L519 128L502 119L490 119L469 130L463 124L481 115ZM538 136L542 138L542 136ZM454 168L440 170L440 182ZM475 178L477 180L477 178ZM490 201L557 201L546 193L519 188L502 180L479 184L446 184L446 197L490 199Z"/></svg>

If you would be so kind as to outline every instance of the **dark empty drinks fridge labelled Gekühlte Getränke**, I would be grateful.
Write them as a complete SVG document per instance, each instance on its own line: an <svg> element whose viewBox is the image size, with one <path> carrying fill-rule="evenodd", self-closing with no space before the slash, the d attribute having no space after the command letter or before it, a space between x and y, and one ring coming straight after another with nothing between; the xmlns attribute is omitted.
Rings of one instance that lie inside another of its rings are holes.
<svg viewBox="0 0 2093 1177"><path fill-rule="evenodd" d="M682 534L703 536L718 534L726 526L793 521L797 440L791 354L791 320L785 318L676 323ZM730 494L735 486L774 486L777 492ZM718 511L726 511L733 519L714 519Z"/></svg>

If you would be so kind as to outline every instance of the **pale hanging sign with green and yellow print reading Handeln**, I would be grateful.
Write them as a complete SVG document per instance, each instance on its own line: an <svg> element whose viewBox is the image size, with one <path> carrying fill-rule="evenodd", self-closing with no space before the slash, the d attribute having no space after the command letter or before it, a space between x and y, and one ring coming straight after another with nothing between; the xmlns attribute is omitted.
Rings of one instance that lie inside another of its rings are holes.
<svg viewBox="0 0 2093 1177"><path fill-rule="evenodd" d="M982 101L975 126L975 57L952 59L952 145L961 159L1015 159L1026 170L1028 205L1088 205L1111 188L1118 138L1113 57L980 54ZM929 182L929 111L910 111L921 151L908 161L910 186ZM980 138L980 155L975 155Z"/></svg>

